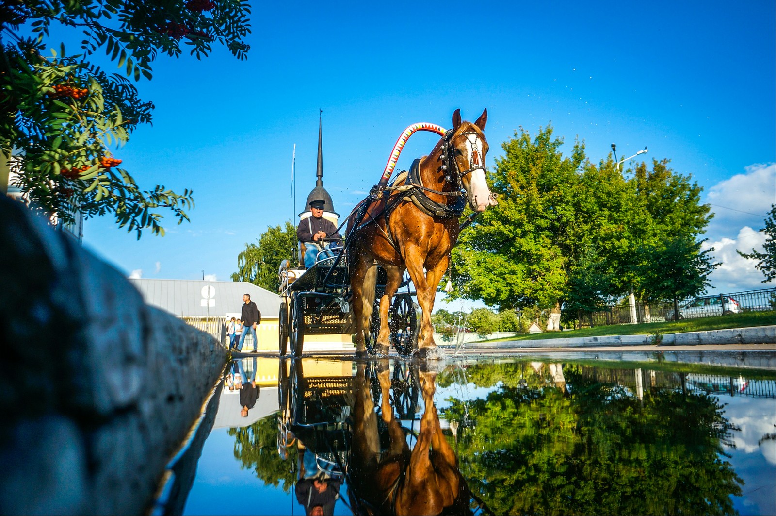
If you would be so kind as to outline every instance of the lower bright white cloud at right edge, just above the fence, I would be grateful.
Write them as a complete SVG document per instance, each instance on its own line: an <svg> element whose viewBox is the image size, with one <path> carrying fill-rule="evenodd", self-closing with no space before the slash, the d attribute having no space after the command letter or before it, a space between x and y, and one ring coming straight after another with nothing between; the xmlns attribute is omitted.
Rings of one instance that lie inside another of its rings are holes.
<svg viewBox="0 0 776 516"><path fill-rule="evenodd" d="M736 249L742 253L751 253L752 249L762 253L764 243L765 233L749 226L743 226L734 239L722 237L715 242L705 242L703 249L713 247L714 261L722 262L710 276L712 291L734 292L772 286L762 283L763 273L754 268L758 260L747 260L736 253Z"/></svg>

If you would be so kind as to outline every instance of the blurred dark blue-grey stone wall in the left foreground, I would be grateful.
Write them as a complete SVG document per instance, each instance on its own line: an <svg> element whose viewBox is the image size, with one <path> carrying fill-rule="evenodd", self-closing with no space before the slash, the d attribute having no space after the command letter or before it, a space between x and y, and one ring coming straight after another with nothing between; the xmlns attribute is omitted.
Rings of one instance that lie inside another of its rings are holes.
<svg viewBox="0 0 776 516"><path fill-rule="evenodd" d="M147 511L227 350L0 198L0 513Z"/></svg>

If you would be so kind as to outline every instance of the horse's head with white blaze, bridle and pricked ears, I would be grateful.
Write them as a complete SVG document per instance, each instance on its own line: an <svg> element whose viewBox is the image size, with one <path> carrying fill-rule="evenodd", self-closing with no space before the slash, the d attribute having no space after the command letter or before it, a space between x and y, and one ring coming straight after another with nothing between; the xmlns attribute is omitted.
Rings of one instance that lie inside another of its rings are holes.
<svg viewBox="0 0 776 516"><path fill-rule="evenodd" d="M488 206L498 204L485 179L488 145L483 131L486 122L487 109L474 124L462 121L461 110L456 110L452 113L452 130L449 136L445 135L443 143L442 162L449 164L446 173L457 174L474 211L485 211Z"/></svg>

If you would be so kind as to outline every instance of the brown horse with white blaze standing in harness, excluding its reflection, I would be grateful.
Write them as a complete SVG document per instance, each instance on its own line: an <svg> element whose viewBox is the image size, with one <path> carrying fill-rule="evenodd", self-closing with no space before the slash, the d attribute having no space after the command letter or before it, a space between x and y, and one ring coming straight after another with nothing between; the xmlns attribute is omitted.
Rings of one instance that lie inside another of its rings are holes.
<svg viewBox="0 0 776 516"><path fill-rule="evenodd" d="M410 173L383 192L377 200L359 204L365 217L356 221L359 207L348 219L348 268L355 319L356 354L366 354L364 331L369 331L377 276L376 262L387 272L385 293L380 298L379 350L388 353L388 310L404 270L417 291L423 312L418 333L418 352L436 347L431 326L439 281L449 266L450 249L459 234L459 215L465 200L473 211L497 204L485 178L488 145L483 130L487 110L474 122L452 114L452 130L435 145L431 154L416 160ZM462 194L462 190L465 194ZM465 198L464 198L465 196ZM365 206L369 203L368 206ZM358 223L358 226L354 225Z"/></svg>

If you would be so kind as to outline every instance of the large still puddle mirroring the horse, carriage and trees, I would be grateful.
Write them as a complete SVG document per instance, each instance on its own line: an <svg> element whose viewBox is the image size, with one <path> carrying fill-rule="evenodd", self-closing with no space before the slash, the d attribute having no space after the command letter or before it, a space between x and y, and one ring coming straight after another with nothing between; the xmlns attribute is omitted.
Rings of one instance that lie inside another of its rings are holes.
<svg viewBox="0 0 776 516"><path fill-rule="evenodd" d="M771 367L246 358L214 397L168 512L776 514Z"/></svg>

